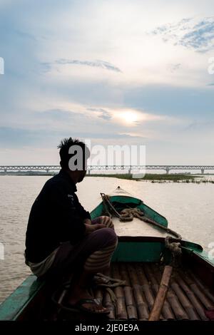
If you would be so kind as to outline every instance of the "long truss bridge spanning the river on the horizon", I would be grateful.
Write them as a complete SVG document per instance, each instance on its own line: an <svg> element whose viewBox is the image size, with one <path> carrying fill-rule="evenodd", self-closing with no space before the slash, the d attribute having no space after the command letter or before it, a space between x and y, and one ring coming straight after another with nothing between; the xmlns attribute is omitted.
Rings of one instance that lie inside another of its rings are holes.
<svg viewBox="0 0 214 335"><path fill-rule="evenodd" d="M60 170L60 165L0 165L0 172L32 172L32 171L51 171ZM171 170L200 170L203 175L205 170L214 170L214 165L88 165L88 174L94 170L165 170L168 174Z"/></svg>

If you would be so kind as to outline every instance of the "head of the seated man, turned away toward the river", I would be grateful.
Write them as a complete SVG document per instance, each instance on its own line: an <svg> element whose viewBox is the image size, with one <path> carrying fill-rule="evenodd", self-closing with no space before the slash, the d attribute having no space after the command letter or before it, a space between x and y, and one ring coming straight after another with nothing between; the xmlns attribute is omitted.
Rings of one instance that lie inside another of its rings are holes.
<svg viewBox="0 0 214 335"><path fill-rule="evenodd" d="M58 148L61 168L67 170L76 182L81 182L86 175L87 159L90 156L86 144L75 138L64 138Z"/></svg>

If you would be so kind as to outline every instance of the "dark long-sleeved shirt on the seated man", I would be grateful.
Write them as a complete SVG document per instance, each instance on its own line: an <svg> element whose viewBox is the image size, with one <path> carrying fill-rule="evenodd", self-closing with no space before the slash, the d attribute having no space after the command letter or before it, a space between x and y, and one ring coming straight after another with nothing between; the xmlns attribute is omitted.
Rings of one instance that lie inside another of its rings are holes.
<svg viewBox="0 0 214 335"><path fill-rule="evenodd" d="M26 231L26 260L41 262L61 242L76 244L83 238L85 219L91 219L75 194L76 185L66 171L49 179L31 208Z"/></svg>

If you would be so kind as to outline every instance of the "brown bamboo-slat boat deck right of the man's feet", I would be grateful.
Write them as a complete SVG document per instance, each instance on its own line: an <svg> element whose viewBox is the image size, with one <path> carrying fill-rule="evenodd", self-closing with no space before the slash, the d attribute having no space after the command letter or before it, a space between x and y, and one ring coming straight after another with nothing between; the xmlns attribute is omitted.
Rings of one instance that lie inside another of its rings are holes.
<svg viewBox="0 0 214 335"><path fill-rule="evenodd" d="M113 304L111 295L103 289L96 289L94 297L111 309L109 319L148 320L162 271L159 264L114 263L111 277L126 280L125 286L113 288L116 303ZM213 309L214 294L192 272L174 270L161 319L208 320L205 311Z"/></svg>

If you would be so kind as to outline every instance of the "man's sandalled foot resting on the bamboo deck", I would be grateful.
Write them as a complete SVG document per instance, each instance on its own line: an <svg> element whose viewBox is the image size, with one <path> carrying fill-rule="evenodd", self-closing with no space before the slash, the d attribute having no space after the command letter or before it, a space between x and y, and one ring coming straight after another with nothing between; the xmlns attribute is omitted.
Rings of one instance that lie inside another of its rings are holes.
<svg viewBox="0 0 214 335"><path fill-rule="evenodd" d="M68 304L73 306L75 304L78 304L78 301L80 301L81 299L93 299L93 297L91 297L91 294L88 293L87 289L75 288L70 293L70 296L68 298ZM83 306L85 309L88 309L88 311L96 313L104 313L108 311L106 307L103 307L101 304L97 304L96 301L94 301L94 303L86 302L81 304L81 306Z"/></svg>

